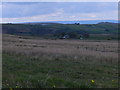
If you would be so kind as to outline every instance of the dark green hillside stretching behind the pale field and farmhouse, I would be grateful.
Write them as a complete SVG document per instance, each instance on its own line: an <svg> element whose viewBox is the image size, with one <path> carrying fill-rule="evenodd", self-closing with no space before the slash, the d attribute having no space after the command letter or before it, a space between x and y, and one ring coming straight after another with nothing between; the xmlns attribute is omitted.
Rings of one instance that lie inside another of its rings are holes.
<svg viewBox="0 0 120 90"><path fill-rule="evenodd" d="M117 35L118 24L110 22L100 22L98 24L59 24L59 23L21 23L3 24L2 31L6 34L29 35L39 37L62 37L66 34L73 36L107 34Z"/></svg>

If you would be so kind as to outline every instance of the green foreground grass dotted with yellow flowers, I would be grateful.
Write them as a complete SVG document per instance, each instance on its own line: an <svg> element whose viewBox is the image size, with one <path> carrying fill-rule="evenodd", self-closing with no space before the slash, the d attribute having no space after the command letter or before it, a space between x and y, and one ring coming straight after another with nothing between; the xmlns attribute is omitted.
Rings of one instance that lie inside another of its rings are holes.
<svg viewBox="0 0 120 90"><path fill-rule="evenodd" d="M34 60L3 53L3 88L114 88L118 87L116 72L115 63Z"/></svg>

